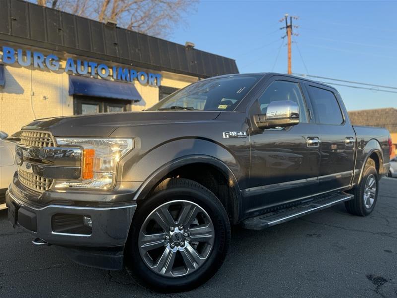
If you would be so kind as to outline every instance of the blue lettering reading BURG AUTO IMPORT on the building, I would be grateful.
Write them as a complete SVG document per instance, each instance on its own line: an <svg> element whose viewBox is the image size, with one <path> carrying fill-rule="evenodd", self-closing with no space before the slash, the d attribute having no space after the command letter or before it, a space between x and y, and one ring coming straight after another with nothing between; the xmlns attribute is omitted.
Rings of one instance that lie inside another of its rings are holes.
<svg viewBox="0 0 397 298"><path fill-rule="evenodd" d="M25 53L24 53L25 52ZM2 62L5 64L18 63L20 66L31 66L40 69L49 69L58 71L60 68L59 58L50 54L45 57L40 52L32 52L29 50L15 49L3 46ZM112 74L111 72L112 71ZM142 85L161 85L161 74L147 73L136 71L134 69L124 67L109 67L104 63L96 63L81 59L68 58L66 60L65 72L71 74L91 75L93 77L108 78L112 75L114 80L132 82L137 80Z"/></svg>

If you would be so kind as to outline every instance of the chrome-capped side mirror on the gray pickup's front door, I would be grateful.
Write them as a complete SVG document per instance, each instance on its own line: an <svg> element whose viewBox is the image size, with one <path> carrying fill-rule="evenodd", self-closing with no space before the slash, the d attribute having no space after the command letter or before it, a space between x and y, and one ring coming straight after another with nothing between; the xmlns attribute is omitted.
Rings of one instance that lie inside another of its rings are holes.
<svg viewBox="0 0 397 298"><path fill-rule="evenodd" d="M299 106L291 100L272 101L266 114L255 115L255 123L261 129L296 125L299 123Z"/></svg>

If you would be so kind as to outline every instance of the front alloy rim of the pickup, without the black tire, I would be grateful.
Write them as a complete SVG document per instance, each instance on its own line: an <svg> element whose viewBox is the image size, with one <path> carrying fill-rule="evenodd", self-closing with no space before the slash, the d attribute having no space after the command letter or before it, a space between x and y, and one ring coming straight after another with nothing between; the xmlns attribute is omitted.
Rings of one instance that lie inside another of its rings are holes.
<svg viewBox="0 0 397 298"><path fill-rule="evenodd" d="M192 273L208 259L215 240L211 218L185 200L154 209L139 232L139 253L155 273L178 277Z"/></svg>

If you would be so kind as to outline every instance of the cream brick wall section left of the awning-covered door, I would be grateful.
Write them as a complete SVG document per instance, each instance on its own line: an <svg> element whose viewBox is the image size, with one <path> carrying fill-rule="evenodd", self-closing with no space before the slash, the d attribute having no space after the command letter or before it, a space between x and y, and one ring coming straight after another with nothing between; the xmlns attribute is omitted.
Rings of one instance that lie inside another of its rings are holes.
<svg viewBox="0 0 397 298"><path fill-rule="evenodd" d="M6 65L5 88L0 89L0 130L12 134L34 119L73 115L68 90L68 75L62 71Z"/></svg>

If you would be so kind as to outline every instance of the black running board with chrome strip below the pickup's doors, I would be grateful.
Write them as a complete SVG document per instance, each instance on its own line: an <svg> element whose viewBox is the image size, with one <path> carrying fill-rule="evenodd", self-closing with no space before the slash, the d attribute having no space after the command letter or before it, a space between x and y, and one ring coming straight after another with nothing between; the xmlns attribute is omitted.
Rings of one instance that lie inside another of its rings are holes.
<svg viewBox="0 0 397 298"><path fill-rule="evenodd" d="M316 197L312 201L305 202L301 205L245 219L242 222L242 226L246 229L263 230L267 227L281 224L318 210L326 209L341 202L349 201L353 197L354 195L345 192Z"/></svg>

